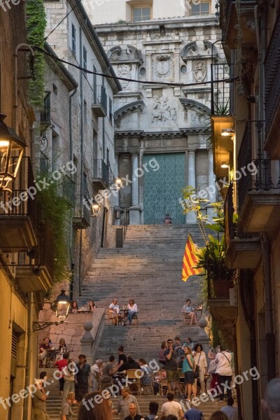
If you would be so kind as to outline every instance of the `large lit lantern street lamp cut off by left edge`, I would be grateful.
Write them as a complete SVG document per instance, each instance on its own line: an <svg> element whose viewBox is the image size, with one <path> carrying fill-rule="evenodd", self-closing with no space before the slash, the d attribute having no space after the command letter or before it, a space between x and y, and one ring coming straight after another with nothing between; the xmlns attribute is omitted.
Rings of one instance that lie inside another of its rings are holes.
<svg viewBox="0 0 280 420"><path fill-rule="evenodd" d="M18 134L4 123L5 118L6 115L0 113L0 191L11 193L8 183L18 174L26 145Z"/></svg>

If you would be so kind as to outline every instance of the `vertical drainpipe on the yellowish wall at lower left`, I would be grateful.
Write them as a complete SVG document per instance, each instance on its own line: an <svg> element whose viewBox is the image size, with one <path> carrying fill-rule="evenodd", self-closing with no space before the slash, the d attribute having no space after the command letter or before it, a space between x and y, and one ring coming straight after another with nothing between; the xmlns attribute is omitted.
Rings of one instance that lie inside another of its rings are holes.
<svg viewBox="0 0 280 420"><path fill-rule="evenodd" d="M31 361L32 354L32 336L33 336L33 312L34 312L34 293L27 293L27 356L26 356L26 369L25 369L25 389L31 384ZM25 398L24 402L24 418L28 419L30 396Z"/></svg>

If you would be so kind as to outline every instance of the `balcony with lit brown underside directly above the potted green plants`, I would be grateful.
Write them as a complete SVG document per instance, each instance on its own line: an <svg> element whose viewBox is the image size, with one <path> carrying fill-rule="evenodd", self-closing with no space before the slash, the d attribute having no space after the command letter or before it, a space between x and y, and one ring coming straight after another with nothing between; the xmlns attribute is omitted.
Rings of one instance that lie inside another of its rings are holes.
<svg viewBox="0 0 280 420"><path fill-rule="evenodd" d="M237 226L233 223L233 188L228 188L225 199L225 265L230 269L254 269L261 258L261 247L259 237L252 235L238 235Z"/></svg>

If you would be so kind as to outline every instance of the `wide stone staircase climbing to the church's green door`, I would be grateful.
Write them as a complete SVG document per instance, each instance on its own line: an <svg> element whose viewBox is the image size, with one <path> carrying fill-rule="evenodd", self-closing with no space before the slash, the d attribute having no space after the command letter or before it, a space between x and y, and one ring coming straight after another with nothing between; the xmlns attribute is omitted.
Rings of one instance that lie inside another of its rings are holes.
<svg viewBox="0 0 280 420"><path fill-rule="evenodd" d="M200 278L181 281L183 252L188 232L204 245L197 225L131 225L123 248L103 248L87 272L78 304L90 299L109 307L113 297L125 304L133 297L139 325L105 328L95 358L108 360L118 346L134 358L158 358L162 340L179 335L197 340L199 328L183 325L181 308L186 297L199 303Z"/></svg>

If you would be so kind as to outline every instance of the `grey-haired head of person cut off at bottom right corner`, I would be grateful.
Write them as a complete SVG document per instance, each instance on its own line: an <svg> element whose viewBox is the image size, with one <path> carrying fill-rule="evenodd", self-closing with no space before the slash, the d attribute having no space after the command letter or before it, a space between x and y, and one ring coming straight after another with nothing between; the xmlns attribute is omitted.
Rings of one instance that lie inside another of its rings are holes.
<svg viewBox="0 0 280 420"><path fill-rule="evenodd" d="M262 409L268 413L270 420L280 420L280 379L274 378L268 382Z"/></svg>

